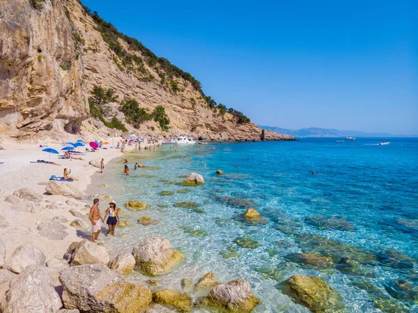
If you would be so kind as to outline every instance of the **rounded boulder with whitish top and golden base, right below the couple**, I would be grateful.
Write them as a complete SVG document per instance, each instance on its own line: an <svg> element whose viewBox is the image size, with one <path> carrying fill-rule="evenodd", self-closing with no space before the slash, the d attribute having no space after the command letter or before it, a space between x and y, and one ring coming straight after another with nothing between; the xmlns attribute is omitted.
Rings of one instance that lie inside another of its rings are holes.
<svg viewBox="0 0 418 313"><path fill-rule="evenodd" d="M155 276L168 273L176 264L183 261L181 252L171 249L165 238L146 238L132 250L135 262L145 275Z"/></svg>

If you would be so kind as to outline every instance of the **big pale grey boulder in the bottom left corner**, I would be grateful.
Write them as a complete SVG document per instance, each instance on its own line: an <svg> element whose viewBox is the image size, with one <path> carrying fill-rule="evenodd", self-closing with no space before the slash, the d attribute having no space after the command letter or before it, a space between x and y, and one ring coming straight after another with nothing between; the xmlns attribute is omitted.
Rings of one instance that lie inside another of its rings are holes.
<svg viewBox="0 0 418 313"><path fill-rule="evenodd" d="M3 313L51 313L61 309L61 299L45 266L28 266L10 281L1 303Z"/></svg>

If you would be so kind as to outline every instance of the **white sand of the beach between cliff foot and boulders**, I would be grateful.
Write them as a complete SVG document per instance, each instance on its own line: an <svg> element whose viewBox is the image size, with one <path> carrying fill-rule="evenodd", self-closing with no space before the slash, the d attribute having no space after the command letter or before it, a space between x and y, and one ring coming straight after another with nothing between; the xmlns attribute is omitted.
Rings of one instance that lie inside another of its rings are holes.
<svg viewBox="0 0 418 313"><path fill-rule="evenodd" d="M1 144L1 146L5 150L0 151L0 162L4 162L0 164L0 215L6 218L9 226L3 229L0 228L0 236L6 245L6 262L16 247L24 243L36 245L47 256L47 260L54 257L61 259L70 243L80 241L91 234L91 228L77 231L74 227L70 227L70 222L75 220L76 217L72 216L68 211L71 208L75 208L80 213L88 214L88 209L84 208L84 206L86 203L90 203L91 200L82 202L71 199L75 205L68 206L65 204L68 198L45 194L45 186L49 182L49 177L53 174L63 176L63 169L67 167L72 170L71 176L79 179L79 181L74 181L71 184L85 192L87 186L91 183L91 176L96 171L99 171L98 168L88 165L88 162L90 160L98 160L100 162L101 158L104 158L106 163L112 158L122 155L121 151L116 148L109 148L88 152L85 155L80 155L84 160L63 160L59 159L58 155L53 154L50 160L61 164L61 166L56 166L30 163L36 160L49 160L49 153L42 152L42 148L39 145ZM48 147L61 152L62 145L48 144ZM134 147L128 146L127 150L132 148ZM82 151L83 148L79 149ZM13 204L3 201L8 195L21 188L28 188L42 195L43 201L40 204L39 213L17 211L13 208ZM103 194L106 194L105 188L103 188ZM56 201L61 201L64 204L63 208L45 208L46 205ZM45 219L52 219L55 216L64 216L68 219L68 222L63 224L68 227L69 235L62 241L43 238L36 231L39 222Z"/></svg>

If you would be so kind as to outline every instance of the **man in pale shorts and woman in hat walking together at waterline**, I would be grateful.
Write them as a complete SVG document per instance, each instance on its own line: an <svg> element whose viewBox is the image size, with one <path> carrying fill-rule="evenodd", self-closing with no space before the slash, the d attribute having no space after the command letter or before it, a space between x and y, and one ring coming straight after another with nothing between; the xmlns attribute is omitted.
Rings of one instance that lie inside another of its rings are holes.
<svg viewBox="0 0 418 313"><path fill-rule="evenodd" d="M93 206L91 206L90 214L88 214L88 220L90 220L91 227L93 228L91 233L91 241L93 241L93 243L99 238L99 234L102 231L102 223L104 223L104 220L107 219L106 224L108 227L105 236L109 234L114 236L116 225L118 225L120 222L119 209L117 208L115 201L109 202L109 208L106 209L104 217L102 217L102 214L100 213L99 202L100 200L98 198L93 200Z"/></svg>

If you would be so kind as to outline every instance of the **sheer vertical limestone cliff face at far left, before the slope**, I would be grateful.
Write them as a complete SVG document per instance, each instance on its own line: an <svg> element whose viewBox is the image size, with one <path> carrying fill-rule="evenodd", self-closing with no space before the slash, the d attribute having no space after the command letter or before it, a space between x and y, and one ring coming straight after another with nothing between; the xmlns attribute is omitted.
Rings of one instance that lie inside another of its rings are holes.
<svg viewBox="0 0 418 313"><path fill-rule="evenodd" d="M89 112L75 33L63 1L0 0L0 134L80 130Z"/></svg>

